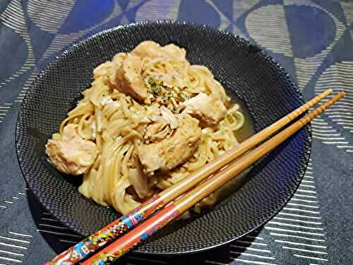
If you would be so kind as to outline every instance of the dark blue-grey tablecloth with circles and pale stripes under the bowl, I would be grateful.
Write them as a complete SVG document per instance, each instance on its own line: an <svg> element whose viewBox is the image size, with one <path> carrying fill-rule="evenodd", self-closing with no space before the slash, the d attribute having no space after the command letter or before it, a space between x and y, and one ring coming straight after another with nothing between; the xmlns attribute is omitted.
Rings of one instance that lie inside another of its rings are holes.
<svg viewBox="0 0 353 265"><path fill-rule="evenodd" d="M261 46L304 97L347 97L313 123L311 160L287 206L250 235L189 256L128 254L119 264L353 264L353 2L333 0L1 0L0 264L42 264L79 237L49 215L18 167L16 116L37 73L64 47L141 20L212 25Z"/></svg>

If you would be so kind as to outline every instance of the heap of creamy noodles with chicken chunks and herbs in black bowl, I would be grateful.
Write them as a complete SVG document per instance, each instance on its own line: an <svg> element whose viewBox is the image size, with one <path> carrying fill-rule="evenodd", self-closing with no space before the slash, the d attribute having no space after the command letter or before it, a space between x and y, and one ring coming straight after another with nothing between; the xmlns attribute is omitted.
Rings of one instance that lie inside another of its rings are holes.
<svg viewBox="0 0 353 265"><path fill-rule="evenodd" d="M98 204L125 214L239 143L244 111L177 45L141 42L93 76L46 153L57 170L83 175L79 192Z"/></svg>

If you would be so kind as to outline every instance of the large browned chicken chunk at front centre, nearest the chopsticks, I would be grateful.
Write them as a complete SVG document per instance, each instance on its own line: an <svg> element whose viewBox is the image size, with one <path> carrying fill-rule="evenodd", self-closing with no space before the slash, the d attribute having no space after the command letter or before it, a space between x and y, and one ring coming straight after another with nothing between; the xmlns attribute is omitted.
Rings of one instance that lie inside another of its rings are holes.
<svg viewBox="0 0 353 265"><path fill-rule="evenodd" d="M153 175L155 170L172 170L188 160L201 142L201 128L198 120L184 114L172 136L156 143L138 146L138 158L145 174Z"/></svg>

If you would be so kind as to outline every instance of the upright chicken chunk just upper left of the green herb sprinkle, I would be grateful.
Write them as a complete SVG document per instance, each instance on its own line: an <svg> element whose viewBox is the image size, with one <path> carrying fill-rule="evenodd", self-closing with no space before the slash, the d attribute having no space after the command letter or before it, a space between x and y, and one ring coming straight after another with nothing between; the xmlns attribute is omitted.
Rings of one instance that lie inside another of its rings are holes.
<svg viewBox="0 0 353 265"><path fill-rule="evenodd" d="M122 93L131 95L139 102L147 97L147 88L141 76L142 61L139 57L128 54L121 67L116 71L116 86Z"/></svg>

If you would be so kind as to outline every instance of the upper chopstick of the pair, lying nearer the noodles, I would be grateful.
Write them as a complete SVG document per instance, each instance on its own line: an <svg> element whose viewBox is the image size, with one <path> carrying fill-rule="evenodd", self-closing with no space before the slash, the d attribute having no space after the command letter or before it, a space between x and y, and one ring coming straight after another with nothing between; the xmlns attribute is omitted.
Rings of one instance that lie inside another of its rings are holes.
<svg viewBox="0 0 353 265"><path fill-rule="evenodd" d="M318 102L323 100L323 98L330 95L332 91L332 89L325 90L320 95L311 99L309 102L306 102L301 107L287 114L285 117L282 117L277 122L266 127L262 131L259 131L257 134L251 136L238 146L229 149L229 151L223 153L215 160L206 164L200 170L193 172L186 179L183 179L181 182L177 182L168 189L164 189L164 191L160 192L160 194L152 196L151 199L148 199L143 204L138 206L138 208L133 209L130 213L121 216L121 218L114 220L112 223L95 232L90 237L87 237L73 247L68 248L66 251L54 257L54 259L49 261L47 264L61 264L63 262L66 262L67 264L78 264L79 261L96 252L97 249L100 249L100 247L103 247L112 240L116 240L116 238L121 237L121 235L124 235L125 232L145 220L145 218L148 218L148 216L152 215L152 213L155 213L155 211L167 205L181 194L184 194L203 179L206 179L214 172L217 172L217 170L220 170L220 168L224 167L235 158L238 158L246 151L249 151L251 148L258 145L258 143L261 143L268 138L268 136L274 134L283 126L289 124L289 122L292 122L294 119L299 117L299 115L309 110L310 107L313 107L313 105L316 105Z"/></svg>

